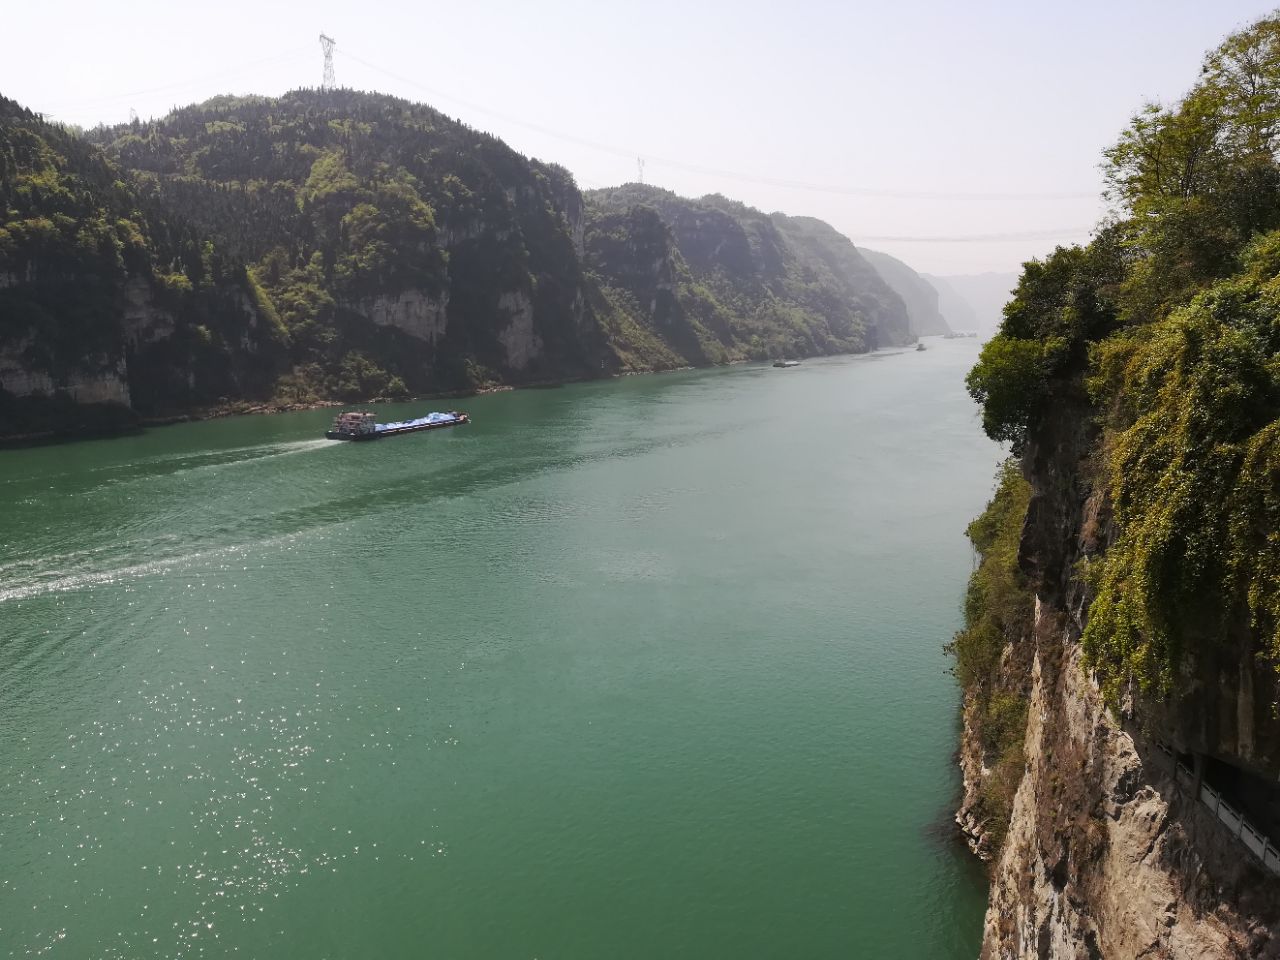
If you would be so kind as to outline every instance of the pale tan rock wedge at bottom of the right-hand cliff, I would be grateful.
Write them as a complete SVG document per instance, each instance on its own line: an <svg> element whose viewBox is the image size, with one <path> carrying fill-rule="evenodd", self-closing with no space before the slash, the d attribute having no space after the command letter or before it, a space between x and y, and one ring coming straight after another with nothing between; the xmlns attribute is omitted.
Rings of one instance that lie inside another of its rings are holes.
<svg viewBox="0 0 1280 960"><path fill-rule="evenodd" d="M1027 768L983 957L1280 956L1280 881L1103 707L1078 635L1037 605Z"/></svg>

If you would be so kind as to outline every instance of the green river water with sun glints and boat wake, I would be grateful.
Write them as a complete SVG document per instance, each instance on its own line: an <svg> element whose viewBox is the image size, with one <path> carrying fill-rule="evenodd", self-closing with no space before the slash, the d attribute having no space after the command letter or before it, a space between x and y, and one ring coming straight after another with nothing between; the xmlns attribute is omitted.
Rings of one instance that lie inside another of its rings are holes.
<svg viewBox="0 0 1280 960"><path fill-rule="evenodd" d="M975 356L0 452L0 956L970 960Z"/></svg>

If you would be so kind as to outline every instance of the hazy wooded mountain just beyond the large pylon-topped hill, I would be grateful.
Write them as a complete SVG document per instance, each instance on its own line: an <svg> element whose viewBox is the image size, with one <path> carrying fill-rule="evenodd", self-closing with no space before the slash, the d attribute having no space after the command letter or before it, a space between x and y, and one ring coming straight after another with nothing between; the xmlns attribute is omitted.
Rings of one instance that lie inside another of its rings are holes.
<svg viewBox="0 0 1280 960"><path fill-rule="evenodd" d="M902 302L820 220L637 183L591 191L586 207L585 262L631 362L813 356L911 339Z"/></svg>

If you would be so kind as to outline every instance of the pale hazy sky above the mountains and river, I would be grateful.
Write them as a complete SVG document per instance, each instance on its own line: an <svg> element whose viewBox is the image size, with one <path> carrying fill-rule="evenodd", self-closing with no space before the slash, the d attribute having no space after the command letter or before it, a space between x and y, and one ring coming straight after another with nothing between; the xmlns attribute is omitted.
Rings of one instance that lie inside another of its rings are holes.
<svg viewBox="0 0 1280 960"><path fill-rule="evenodd" d="M0 93L83 125L338 83L434 105L572 170L819 216L938 274L1083 239L1146 99L1271 8L982 3L10 3ZM992 237L1016 234L1016 239ZM1027 236L1034 234L1034 236ZM934 238L948 238L937 241Z"/></svg>

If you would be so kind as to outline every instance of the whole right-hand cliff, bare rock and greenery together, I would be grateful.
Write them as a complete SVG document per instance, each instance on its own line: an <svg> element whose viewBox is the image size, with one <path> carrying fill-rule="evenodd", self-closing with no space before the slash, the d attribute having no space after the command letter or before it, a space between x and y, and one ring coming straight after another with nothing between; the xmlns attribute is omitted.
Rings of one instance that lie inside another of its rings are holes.
<svg viewBox="0 0 1280 960"><path fill-rule="evenodd" d="M1277 120L1270 17L1137 114L1111 218L1025 265L969 375L1018 457L954 644L984 956L1276 955Z"/></svg>

